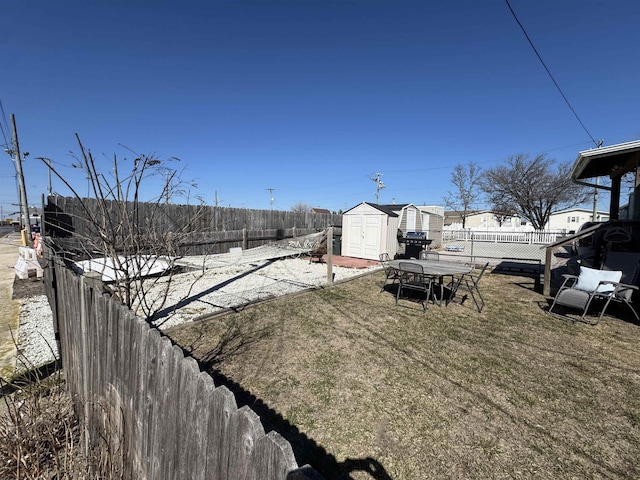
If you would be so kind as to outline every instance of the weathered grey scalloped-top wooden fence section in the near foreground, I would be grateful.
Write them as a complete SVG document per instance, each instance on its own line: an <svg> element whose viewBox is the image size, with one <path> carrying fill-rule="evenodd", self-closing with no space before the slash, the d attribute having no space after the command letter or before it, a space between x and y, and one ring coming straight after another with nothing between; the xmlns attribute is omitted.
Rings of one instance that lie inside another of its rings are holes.
<svg viewBox="0 0 640 480"><path fill-rule="evenodd" d="M265 434L256 413L238 409L230 390L99 281L47 257L45 287L86 451L106 455L122 478L321 478L298 468L283 437Z"/></svg>

